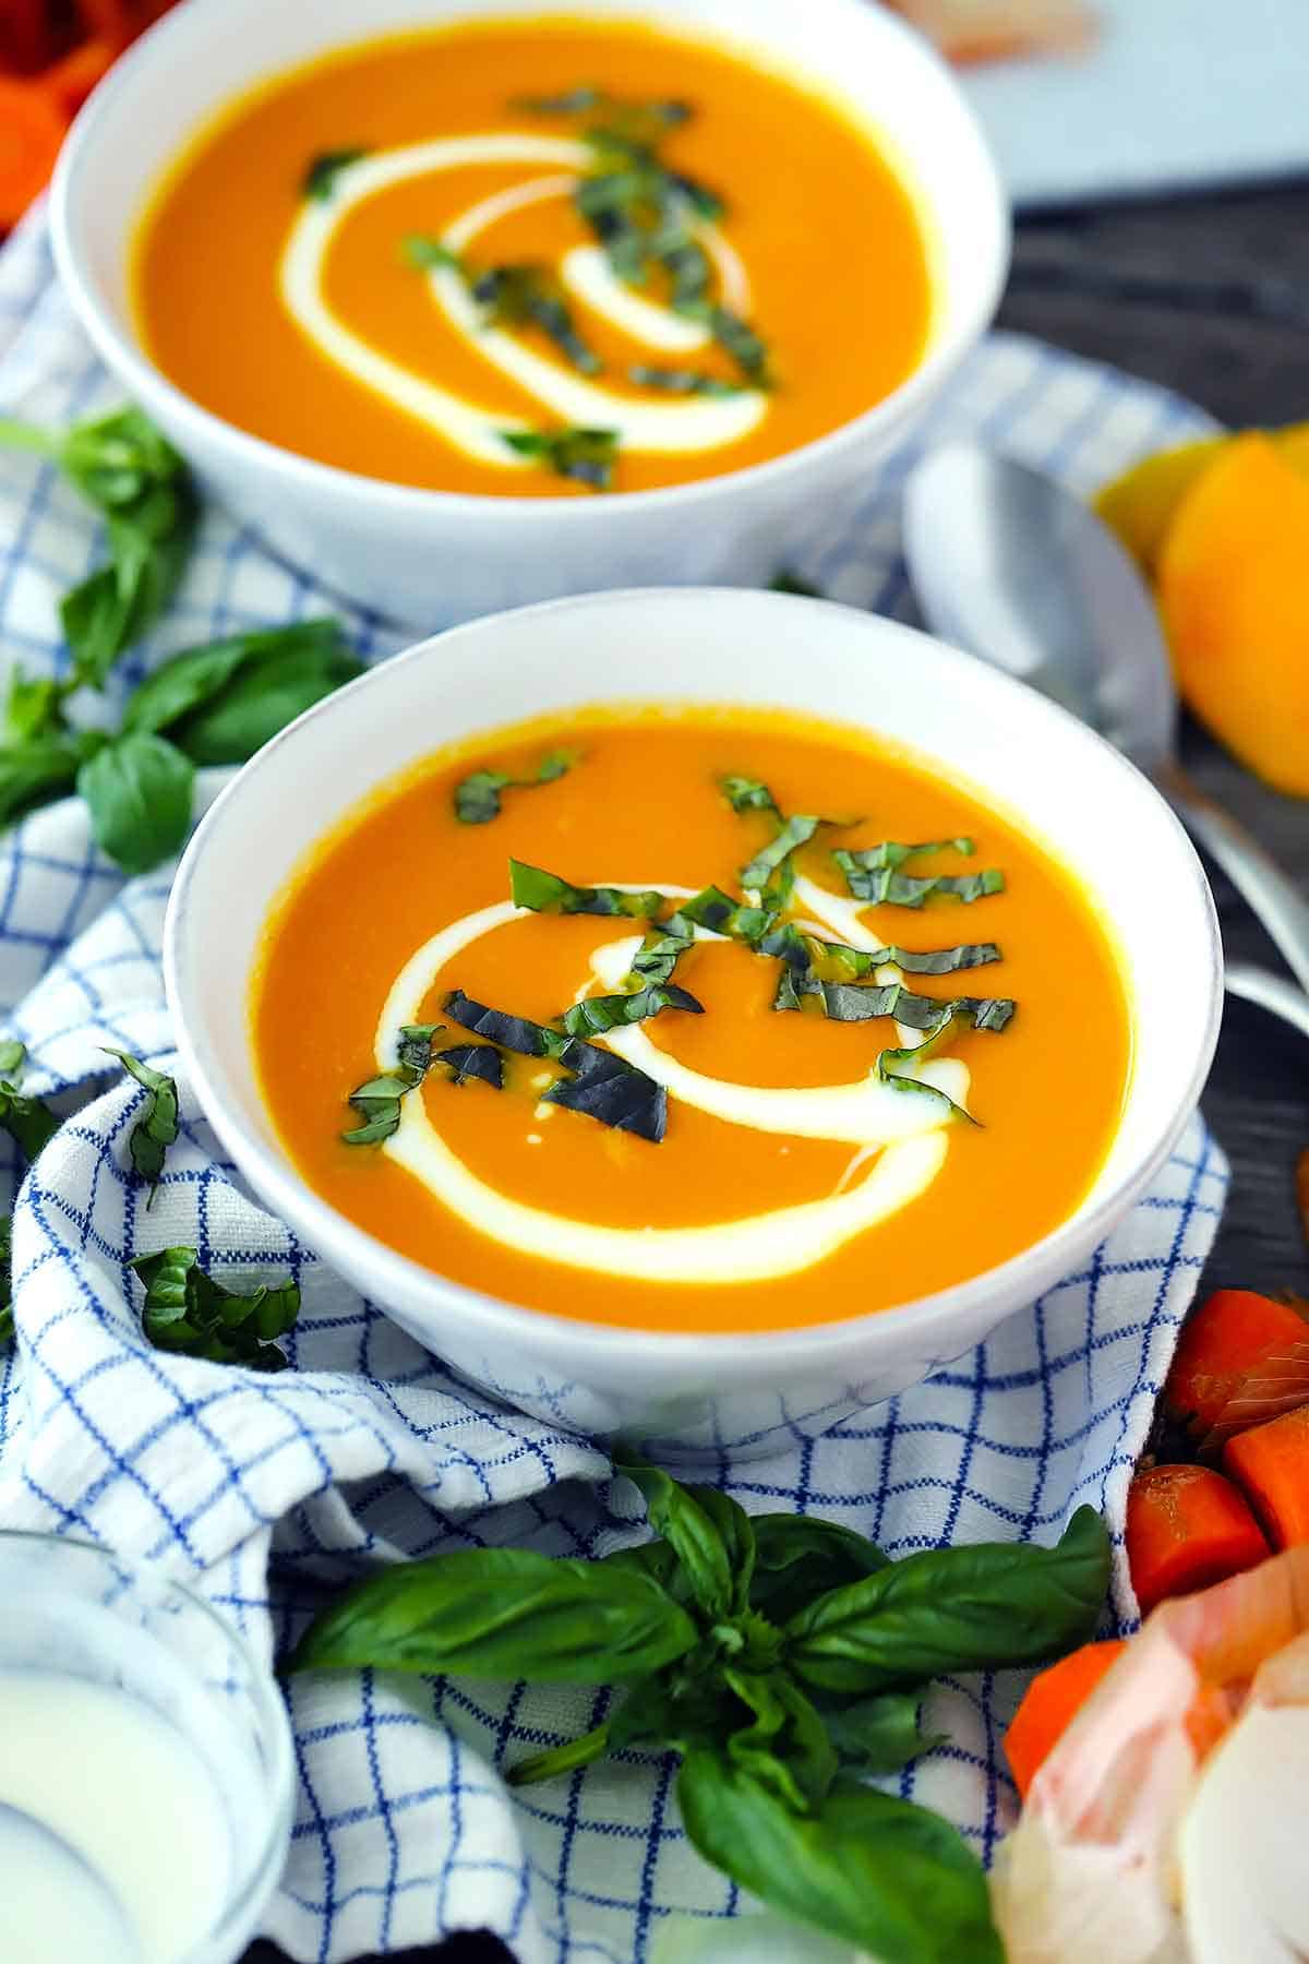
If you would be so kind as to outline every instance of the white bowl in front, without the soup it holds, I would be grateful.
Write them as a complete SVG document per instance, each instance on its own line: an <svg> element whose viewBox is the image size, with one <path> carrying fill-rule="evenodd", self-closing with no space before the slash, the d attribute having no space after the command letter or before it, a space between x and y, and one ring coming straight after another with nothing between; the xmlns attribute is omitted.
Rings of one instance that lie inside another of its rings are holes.
<svg viewBox="0 0 1309 1964"><path fill-rule="evenodd" d="M306 1186L263 1108L247 1025L263 923L292 868L357 799L438 744L652 693L820 717L840 705L844 723L924 752L1021 817L1083 882L1121 953L1138 1068L1107 1163L1062 1228L985 1275L873 1316L681 1336L493 1300L385 1247ZM318 703L200 823L173 886L165 976L214 1129L310 1247L463 1377L577 1432L642 1434L663 1457L763 1453L822 1432L958 1357L1083 1263L1193 1112L1223 1000L1205 874L1168 805L1117 750L913 628L726 587L591 593L475 621Z"/></svg>

